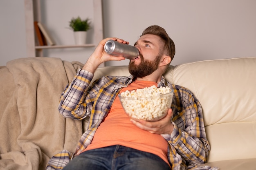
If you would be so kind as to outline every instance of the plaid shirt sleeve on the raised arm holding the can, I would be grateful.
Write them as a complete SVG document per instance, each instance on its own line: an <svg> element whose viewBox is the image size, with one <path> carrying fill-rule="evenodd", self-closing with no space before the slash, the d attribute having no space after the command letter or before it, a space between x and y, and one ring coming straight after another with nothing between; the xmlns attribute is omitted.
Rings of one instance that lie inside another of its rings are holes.
<svg viewBox="0 0 256 170"><path fill-rule="evenodd" d="M61 94L58 106L59 112L63 117L84 119L90 115L90 109L88 108L93 103L93 97L88 95L87 102L84 101L93 76L93 73L80 69L72 82L67 85Z"/></svg>

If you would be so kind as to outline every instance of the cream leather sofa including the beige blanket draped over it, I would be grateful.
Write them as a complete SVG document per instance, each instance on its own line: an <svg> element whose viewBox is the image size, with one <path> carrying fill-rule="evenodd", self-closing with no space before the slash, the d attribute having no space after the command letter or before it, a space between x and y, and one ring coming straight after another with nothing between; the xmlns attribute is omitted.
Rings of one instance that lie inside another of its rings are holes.
<svg viewBox="0 0 256 170"><path fill-rule="evenodd" d="M87 122L63 119L58 101L82 66L50 57L0 66L1 168L43 170L61 150L74 152ZM98 68L93 80L102 75L128 76L128 66ZM256 57L170 66L164 76L189 88L202 104L211 144L206 164L220 170L255 170Z"/></svg>

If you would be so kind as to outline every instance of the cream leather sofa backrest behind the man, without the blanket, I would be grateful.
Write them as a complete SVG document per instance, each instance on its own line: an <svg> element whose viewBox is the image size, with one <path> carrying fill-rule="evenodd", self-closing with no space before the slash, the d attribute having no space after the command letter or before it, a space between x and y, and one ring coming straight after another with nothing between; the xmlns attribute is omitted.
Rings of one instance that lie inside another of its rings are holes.
<svg viewBox="0 0 256 170"><path fill-rule="evenodd" d="M130 75L127 66L99 68L102 75ZM169 82L191 90L202 104L209 162L256 158L256 57L170 66Z"/></svg>

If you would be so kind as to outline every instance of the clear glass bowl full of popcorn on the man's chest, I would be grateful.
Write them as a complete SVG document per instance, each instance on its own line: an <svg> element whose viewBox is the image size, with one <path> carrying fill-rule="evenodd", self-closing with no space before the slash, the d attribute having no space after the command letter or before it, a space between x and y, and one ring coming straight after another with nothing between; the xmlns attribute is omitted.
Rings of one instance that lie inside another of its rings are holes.
<svg viewBox="0 0 256 170"><path fill-rule="evenodd" d="M151 86L119 94L128 116L135 120L157 121L166 116L173 101L173 89Z"/></svg>

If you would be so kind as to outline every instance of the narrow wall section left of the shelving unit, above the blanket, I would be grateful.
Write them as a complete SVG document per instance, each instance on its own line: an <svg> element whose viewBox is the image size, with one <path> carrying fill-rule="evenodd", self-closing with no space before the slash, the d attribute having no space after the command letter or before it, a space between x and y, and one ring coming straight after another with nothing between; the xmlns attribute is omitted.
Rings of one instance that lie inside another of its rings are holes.
<svg viewBox="0 0 256 170"><path fill-rule="evenodd" d="M26 53L23 0L0 0L0 66Z"/></svg>

